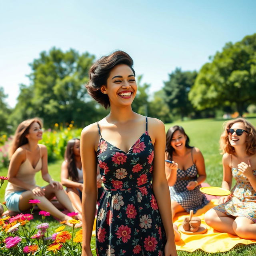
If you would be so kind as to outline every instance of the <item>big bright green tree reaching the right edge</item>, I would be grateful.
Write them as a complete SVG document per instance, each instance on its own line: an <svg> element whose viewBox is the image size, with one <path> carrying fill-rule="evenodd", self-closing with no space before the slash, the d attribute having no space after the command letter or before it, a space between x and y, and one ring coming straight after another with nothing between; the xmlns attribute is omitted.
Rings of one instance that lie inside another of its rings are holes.
<svg viewBox="0 0 256 256"><path fill-rule="evenodd" d="M210 60L198 73L189 99L198 110L236 104L242 116L256 98L256 34L227 43Z"/></svg>

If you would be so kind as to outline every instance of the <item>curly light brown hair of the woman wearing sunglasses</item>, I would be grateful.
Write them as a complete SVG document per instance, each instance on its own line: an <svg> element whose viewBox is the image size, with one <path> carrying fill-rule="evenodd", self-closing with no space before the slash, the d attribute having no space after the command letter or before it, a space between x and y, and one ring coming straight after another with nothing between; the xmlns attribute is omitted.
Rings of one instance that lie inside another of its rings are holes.
<svg viewBox="0 0 256 256"><path fill-rule="evenodd" d="M247 133L247 139L246 139L246 154L248 156L254 155L256 153L256 130L250 122L245 120L244 118L236 118L233 120L229 120L223 124L224 131L222 132L220 136L220 149L222 150L222 154L228 153L228 154L234 154L235 149L230 145L230 142L228 140L228 132L227 129L229 129L233 124L235 123L243 123L245 126L245 130Z"/></svg>

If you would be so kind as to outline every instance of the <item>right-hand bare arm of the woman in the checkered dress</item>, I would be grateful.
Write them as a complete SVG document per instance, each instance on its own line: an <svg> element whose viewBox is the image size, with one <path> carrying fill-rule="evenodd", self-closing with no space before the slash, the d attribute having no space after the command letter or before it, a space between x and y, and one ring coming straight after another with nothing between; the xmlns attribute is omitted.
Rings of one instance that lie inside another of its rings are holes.
<svg viewBox="0 0 256 256"><path fill-rule="evenodd" d="M193 161L196 164L196 169L198 171L198 178L196 181L190 181L186 188L188 190L193 190L196 186L204 182L206 179L205 165L204 165L204 156L198 148L192 148L193 150Z"/></svg>

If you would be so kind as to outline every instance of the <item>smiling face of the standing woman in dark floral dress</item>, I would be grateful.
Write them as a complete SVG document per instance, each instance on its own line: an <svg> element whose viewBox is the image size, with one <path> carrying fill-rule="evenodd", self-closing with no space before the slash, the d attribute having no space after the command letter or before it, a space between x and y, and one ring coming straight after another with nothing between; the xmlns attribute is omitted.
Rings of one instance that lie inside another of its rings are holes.
<svg viewBox="0 0 256 256"><path fill-rule="evenodd" d="M108 94L110 105L131 105L137 92L132 69L126 64L116 65L110 71L107 85L103 85L101 91Z"/></svg>

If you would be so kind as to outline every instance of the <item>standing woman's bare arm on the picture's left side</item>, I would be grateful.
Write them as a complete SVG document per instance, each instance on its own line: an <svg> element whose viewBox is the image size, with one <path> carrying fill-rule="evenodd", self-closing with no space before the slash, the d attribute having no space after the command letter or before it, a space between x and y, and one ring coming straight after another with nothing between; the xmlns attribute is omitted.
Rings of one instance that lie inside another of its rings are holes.
<svg viewBox="0 0 256 256"><path fill-rule="evenodd" d="M80 142L82 169L84 176L84 188L82 192L82 256L92 256L90 242L98 196L98 189L96 184L96 141L98 141L97 126L96 124L90 124L82 130Z"/></svg>

